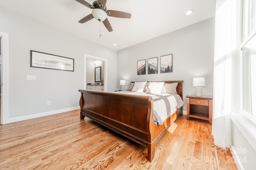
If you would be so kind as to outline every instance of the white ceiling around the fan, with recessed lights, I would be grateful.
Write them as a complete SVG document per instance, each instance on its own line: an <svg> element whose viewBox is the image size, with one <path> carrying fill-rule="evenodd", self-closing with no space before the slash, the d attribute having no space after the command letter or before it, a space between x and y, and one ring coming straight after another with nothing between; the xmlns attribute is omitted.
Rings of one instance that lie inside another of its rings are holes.
<svg viewBox="0 0 256 170"><path fill-rule="evenodd" d="M215 0L107 0L108 10L128 12L132 16L130 19L108 16L113 31L108 32L102 24L99 39L96 19L78 23L92 9L76 0L0 0L0 6L114 50L215 16ZM191 9L194 12L186 16L185 12Z"/></svg>

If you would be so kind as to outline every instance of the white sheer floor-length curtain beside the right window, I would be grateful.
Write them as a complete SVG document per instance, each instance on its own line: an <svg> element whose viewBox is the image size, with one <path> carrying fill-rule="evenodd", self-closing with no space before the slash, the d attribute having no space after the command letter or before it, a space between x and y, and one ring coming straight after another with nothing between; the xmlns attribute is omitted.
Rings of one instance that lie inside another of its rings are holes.
<svg viewBox="0 0 256 170"><path fill-rule="evenodd" d="M224 149L231 147L232 55L237 47L236 1L216 0L215 12L212 135L215 145Z"/></svg>

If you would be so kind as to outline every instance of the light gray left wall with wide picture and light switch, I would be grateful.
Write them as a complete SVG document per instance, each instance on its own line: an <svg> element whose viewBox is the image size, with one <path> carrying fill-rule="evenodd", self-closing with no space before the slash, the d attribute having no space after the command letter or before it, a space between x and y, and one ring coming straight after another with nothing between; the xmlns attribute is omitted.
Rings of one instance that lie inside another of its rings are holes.
<svg viewBox="0 0 256 170"><path fill-rule="evenodd" d="M9 118L78 107L84 54L107 59L107 87L116 89L116 51L2 7L0 21L0 31L9 34ZM74 72L32 68L30 50L72 58ZM26 75L36 75L36 81Z"/></svg>

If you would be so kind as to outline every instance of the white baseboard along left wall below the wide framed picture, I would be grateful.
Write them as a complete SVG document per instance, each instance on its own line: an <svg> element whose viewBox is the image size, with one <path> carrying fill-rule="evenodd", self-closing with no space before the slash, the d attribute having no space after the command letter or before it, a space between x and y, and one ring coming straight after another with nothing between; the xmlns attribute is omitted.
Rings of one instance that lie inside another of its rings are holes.
<svg viewBox="0 0 256 170"><path fill-rule="evenodd" d="M63 113L63 112L67 112L67 111L78 110L78 109L80 109L80 106L78 106L78 107L71 107L71 108L67 108L67 109L48 111L48 112L38 113L38 114L34 114L34 115L26 115L26 116L14 117L14 118L8 119L8 123L14 123L14 122L17 122L17 121L34 119L34 118L48 116L48 115L54 115L54 114Z"/></svg>

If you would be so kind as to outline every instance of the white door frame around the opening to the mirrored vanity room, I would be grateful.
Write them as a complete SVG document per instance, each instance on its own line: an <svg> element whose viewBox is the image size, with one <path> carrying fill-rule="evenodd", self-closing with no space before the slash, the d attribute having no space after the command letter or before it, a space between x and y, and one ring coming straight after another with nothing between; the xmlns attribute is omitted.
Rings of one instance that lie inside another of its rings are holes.
<svg viewBox="0 0 256 170"><path fill-rule="evenodd" d="M94 60L101 60L104 61L104 92L107 91L107 59L103 59L100 57L95 57L92 55L84 54L84 90L86 90L86 58L88 59L94 59Z"/></svg>

